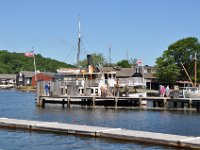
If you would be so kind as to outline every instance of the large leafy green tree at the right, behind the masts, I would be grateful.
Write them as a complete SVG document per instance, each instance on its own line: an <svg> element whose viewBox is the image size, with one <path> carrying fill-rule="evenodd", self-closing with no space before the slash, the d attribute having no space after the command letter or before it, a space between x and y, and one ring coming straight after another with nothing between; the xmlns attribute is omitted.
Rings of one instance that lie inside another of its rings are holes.
<svg viewBox="0 0 200 150"><path fill-rule="evenodd" d="M194 55L197 59L200 56L200 43L197 38L188 37L178 40L171 44L167 50L165 50L161 57L157 58L156 66L158 71L156 76L160 81L172 82L177 80L188 80L188 77L183 69L185 69L194 80ZM197 60L197 64L199 64ZM197 65L198 66L198 65ZM197 68L197 72L200 72L200 67ZM200 79L200 75L198 75ZM198 78L197 77L197 78Z"/></svg>

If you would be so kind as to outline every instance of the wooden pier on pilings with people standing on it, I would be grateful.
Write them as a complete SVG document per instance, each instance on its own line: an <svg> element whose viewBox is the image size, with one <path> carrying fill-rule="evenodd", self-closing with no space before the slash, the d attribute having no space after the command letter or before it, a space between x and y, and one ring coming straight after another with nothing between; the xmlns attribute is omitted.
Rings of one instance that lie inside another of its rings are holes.
<svg viewBox="0 0 200 150"><path fill-rule="evenodd" d="M144 107L143 101L151 102L152 106ZM62 107L70 107L71 104L79 104L81 106L103 105L103 106L128 106L134 108L146 109L177 109L177 110L200 110L200 99L195 98L169 98L169 97L116 97L116 96L39 96L37 98L37 106L45 107L46 103L61 104Z"/></svg>

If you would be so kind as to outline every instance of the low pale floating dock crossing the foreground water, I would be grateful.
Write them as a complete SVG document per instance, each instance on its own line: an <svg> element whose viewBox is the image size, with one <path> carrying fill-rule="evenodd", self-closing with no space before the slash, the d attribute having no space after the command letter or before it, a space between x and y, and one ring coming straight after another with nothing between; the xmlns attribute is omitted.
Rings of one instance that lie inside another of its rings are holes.
<svg viewBox="0 0 200 150"><path fill-rule="evenodd" d="M0 128L75 134L96 138L112 138L116 140L128 140L166 146L200 149L200 137L127 130L121 128L107 128L8 118L0 118Z"/></svg>

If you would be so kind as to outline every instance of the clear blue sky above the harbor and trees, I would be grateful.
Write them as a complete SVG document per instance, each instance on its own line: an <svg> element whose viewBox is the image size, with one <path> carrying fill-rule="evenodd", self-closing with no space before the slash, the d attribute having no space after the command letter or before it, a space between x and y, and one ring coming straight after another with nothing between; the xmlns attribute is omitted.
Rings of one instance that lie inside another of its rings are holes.
<svg viewBox="0 0 200 150"><path fill-rule="evenodd" d="M0 50L76 64L81 54L153 66L176 41L200 40L200 0L0 0Z"/></svg>

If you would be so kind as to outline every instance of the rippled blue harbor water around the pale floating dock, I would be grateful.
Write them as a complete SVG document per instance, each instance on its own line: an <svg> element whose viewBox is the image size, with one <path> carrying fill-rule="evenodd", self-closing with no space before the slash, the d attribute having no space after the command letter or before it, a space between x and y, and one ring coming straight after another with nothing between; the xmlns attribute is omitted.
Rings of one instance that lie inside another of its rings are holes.
<svg viewBox="0 0 200 150"><path fill-rule="evenodd" d="M200 113L195 111L147 111L103 107L92 109L80 106L63 109L61 105L52 104L47 104L45 108L38 108L34 99L35 93L32 92L0 90L0 117L200 136ZM0 149L160 150L176 148L73 135L0 129Z"/></svg>

